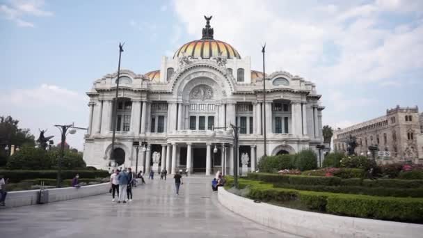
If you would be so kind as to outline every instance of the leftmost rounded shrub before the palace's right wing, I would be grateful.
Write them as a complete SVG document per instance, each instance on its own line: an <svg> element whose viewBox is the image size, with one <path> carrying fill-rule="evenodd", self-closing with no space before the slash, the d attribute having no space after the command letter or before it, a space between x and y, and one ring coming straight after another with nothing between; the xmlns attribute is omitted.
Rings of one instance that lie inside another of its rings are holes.
<svg viewBox="0 0 423 238"><path fill-rule="evenodd" d="M292 165L292 162L294 161L293 157L294 155L292 154L262 157L257 165L257 168L264 173L276 173L282 169L291 169L294 167Z"/></svg>

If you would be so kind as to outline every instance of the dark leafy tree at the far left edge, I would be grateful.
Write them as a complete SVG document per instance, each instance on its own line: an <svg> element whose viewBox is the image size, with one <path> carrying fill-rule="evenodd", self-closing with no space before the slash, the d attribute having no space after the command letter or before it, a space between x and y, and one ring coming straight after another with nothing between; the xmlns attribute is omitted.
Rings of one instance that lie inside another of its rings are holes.
<svg viewBox="0 0 423 238"><path fill-rule="evenodd" d="M29 129L21 129L18 127L19 120L14 120L11 116L0 116L0 166L7 163L8 152L4 150L6 145L23 147L24 145L34 146L34 136Z"/></svg>

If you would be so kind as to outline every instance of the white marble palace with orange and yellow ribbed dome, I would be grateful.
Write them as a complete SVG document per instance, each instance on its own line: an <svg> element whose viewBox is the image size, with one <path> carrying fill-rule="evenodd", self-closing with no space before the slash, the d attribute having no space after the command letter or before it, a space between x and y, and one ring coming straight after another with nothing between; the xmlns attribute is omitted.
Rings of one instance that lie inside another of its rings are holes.
<svg viewBox="0 0 423 238"><path fill-rule="evenodd" d="M317 152L324 106L316 85L289 72L251 69L250 57L216 40L218 29L205 18L202 38L182 45L171 58L163 56L157 70L122 69L119 79L113 72L93 82L87 93L87 166L232 174L236 157L239 170L244 164L244 170L255 171L264 154ZM138 161L134 141L139 141Z"/></svg>

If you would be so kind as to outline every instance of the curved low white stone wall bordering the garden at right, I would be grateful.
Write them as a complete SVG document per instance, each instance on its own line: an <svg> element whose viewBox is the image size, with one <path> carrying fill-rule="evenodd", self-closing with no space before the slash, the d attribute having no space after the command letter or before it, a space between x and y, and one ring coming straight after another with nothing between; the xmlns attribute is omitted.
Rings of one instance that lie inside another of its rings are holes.
<svg viewBox="0 0 423 238"><path fill-rule="evenodd" d="M303 237L420 237L423 225L335 216L254 203L218 188L218 201L247 219Z"/></svg>

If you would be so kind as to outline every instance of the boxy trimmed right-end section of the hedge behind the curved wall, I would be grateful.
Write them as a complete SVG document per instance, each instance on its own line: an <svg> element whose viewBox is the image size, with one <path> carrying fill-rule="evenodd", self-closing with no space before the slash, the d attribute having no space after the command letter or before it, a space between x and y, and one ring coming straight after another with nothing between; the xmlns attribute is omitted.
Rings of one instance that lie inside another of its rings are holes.
<svg viewBox="0 0 423 238"><path fill-rule="evenodd" d="M326 211L371 219L423 222L423 200L420 198L329 196Z"/></svg>

